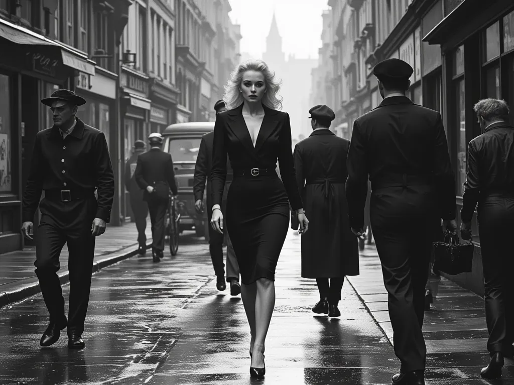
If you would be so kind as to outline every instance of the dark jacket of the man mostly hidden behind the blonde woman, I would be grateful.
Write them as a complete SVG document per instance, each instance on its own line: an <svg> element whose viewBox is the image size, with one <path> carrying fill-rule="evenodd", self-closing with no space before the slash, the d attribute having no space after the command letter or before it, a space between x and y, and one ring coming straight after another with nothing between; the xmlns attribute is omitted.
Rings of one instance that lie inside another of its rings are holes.
<svg viewBox="0 0 514 385"><path fill-rule="evenodd" d="M194 167L193 194L194 199L204 199L204 190L207 183L207 206L212 207L211 195L211 170L212 170L212 146L214 142L214 131L206 133L201 137L200 149ZM232 180L233 171L230 161L227 158L227 183Z"/></svg>

